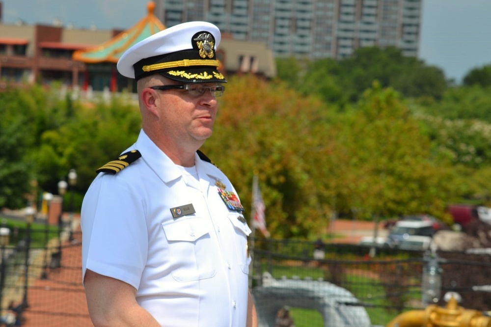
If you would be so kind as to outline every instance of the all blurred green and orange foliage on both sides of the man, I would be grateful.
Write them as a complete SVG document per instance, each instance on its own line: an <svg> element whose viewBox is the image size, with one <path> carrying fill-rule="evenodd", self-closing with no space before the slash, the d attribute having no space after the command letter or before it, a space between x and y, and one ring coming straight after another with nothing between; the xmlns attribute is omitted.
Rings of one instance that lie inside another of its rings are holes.
<svg viewBox="0 0 491 327"><path fill-rule="evenodd" d="M314 239L331 217L491 205L491 65L463 85L394 48L349 59L277 59L277 78L229 78L202 151L234 183L249 214L253 175L273 237ZM128 94L73 100L60 87L0 94L0 208L57 193L75 168L77 205L95 169L130 146L140 114Z"/></svg>

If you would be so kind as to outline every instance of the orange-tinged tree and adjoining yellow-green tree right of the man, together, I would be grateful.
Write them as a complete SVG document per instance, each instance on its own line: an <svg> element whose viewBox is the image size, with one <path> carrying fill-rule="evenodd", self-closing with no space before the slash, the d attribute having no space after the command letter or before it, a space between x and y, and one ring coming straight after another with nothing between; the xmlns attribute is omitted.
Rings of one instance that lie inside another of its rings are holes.
<svg viewBox="0 0 491 327"><path fill-rule="evenodd" d="M246 208L259 173L275 236L313 237L334 211L444 217L445 199L456 195L450 162L433 156L420 122L380 84L343 114L250 77L232 79L228 90L205 151Z"/></svg>

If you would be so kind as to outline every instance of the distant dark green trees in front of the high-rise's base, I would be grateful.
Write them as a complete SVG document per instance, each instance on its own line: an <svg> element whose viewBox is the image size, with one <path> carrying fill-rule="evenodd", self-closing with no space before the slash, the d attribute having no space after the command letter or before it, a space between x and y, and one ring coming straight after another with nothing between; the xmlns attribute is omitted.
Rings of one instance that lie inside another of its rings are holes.
<svg viewBox="0 0 491 327"><path fill-rule="evenodd" d="M374 81L414 98L440 99L447 89L441 69L403 56L395 47L358 48L351 57L341 61L326 58L299 65L291 58L283 58L277 59L277 63L279 79L304 94L317 95L326 103L341 106L358 101ZM303 66L306 68L301 70Z"/></svg>

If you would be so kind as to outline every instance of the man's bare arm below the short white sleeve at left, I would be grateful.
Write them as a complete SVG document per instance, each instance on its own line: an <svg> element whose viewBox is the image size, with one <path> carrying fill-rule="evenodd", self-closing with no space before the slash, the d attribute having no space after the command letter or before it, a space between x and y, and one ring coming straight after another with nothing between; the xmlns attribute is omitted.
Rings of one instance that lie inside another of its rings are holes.
<svg viewBox="0 0 491 327"><path fill-rule="evenodd" d="M90 319L99 326L155 326L160 324L136 302L136 289L121 280L87 269L85 297Z"/></svg>

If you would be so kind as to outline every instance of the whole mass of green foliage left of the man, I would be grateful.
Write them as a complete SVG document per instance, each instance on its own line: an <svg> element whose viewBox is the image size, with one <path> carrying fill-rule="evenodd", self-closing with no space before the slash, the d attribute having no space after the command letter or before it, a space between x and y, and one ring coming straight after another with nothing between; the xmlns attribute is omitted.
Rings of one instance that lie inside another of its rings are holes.
<svg viewBox="0 0 491 327"><path fill-rule="evenodd" d="M141 125L124 98L84 104L37 85L3 92L0 114L0 207L9 208L26 206L33 185L57 194L71 168L83 194L95 169L131 145Z"/></svg>

